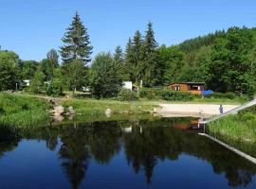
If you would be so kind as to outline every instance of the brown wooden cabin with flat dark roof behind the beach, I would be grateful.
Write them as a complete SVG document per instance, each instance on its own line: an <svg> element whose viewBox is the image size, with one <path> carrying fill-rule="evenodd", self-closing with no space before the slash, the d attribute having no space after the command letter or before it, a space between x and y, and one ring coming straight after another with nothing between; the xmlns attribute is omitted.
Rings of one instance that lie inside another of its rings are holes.
<svg viewBox="0 0 256 189"><path fill-rule="evenodd" d="M206 83L204 82L180 82L171 83L169 88L172 91L190 92L192 94L201 94L206 90Z"/></svg>

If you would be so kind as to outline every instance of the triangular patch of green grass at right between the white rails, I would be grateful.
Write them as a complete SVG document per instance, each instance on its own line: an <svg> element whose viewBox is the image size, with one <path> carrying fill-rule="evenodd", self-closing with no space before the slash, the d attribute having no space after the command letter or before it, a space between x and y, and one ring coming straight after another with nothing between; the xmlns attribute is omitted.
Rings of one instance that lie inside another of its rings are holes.
<svg viewBox="0 0 256 189"><path fill-rule="evenodd" d="M256 157L256 107L210 123L210 135Z"/></svg>

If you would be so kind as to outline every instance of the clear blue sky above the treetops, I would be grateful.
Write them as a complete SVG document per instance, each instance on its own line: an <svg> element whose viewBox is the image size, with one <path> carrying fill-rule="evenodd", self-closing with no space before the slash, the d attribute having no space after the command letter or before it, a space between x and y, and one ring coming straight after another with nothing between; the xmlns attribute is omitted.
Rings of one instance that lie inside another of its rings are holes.
<svg viewBox="0 0 256 189"><path fill-rule="evenodd" d="M229 26L256 26L255 0L0 0L0 45L23 60L58 49L79 11L94 54L123 48L153 22L159 44L181 43Z"/></svg>

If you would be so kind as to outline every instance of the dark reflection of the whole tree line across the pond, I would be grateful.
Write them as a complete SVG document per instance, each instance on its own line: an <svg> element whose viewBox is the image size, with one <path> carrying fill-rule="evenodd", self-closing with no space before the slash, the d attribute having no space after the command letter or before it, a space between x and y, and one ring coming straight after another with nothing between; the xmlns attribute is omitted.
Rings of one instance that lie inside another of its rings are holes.
<svg viewBox="0 0 256 189"><path fill-rule="evenodd" d="M23 129L19 130L18 134L12 130L9 136L16 138L9 146L3 145L5 148L0 144L0 157L5 151L17 146L17 136L44 140L48 149L58 150L64 174L72 187L78 188L85 179L90 160L109 163L119 153L123 143L127 162L135 173L143 171L149 184L159 161L176 161L182 153L211 163L214 173L225 174L229 186L246 186L251 182L256 173L255 166L251 163L191 131L161 127L174 126L179 121L160 119L95 122L80 126ZM132 131L124 132L122 127L125 126L132 127ZM58 141L61 141L60 147L57 147Z"/></svg>

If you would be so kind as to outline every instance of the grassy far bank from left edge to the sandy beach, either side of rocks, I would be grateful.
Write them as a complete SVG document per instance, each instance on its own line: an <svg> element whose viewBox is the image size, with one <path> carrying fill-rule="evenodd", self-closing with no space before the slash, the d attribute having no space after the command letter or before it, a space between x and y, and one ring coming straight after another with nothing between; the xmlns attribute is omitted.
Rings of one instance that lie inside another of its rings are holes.
<svg viewBox="0 0 256 189"><path fill-rule="evenodd" d="M56 98L57 100L57 98ZM140 117L149 115L157 104L154 102L120 102L117 100L58 98L64 108L72 106L78 115L75 121L108 120L106 109L111 109L111 117ZM68 120L66 118L66 120ZM31 94L0 94L0 126L16 128L47 126L50 124L49 104L46 96ZM72 122L72 120L70 121Z"/></svg>

